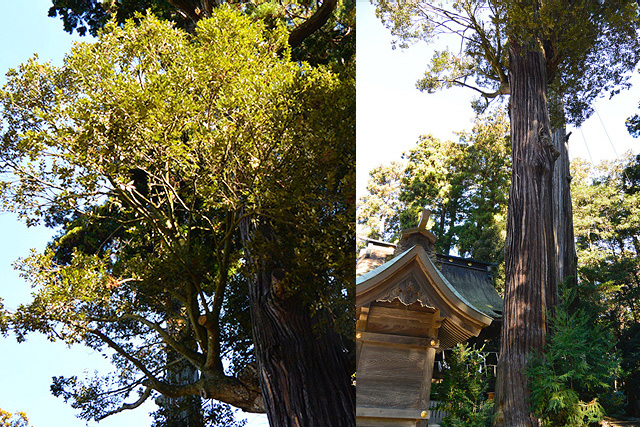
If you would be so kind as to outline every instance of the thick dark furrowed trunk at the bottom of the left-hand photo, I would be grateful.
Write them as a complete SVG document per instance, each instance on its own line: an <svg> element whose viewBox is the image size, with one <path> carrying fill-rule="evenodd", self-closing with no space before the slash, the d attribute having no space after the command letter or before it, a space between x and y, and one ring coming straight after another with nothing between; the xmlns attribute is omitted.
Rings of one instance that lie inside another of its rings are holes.
<svg viewBox="0 0 640 427"><path fill-rule="evenodd" d="M284 291L282 271L270 254L252 253L251 242L272 240L269 226L241 224L250 284L252 330L262 395L271 427L355 426L355 389L348 355L331 323Z"/></svg>

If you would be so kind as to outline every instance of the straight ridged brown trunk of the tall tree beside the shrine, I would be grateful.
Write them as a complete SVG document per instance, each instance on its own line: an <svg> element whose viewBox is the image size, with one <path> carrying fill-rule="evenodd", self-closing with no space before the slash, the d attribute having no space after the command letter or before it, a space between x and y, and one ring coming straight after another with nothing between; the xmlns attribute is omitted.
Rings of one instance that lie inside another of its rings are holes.
<svg viewBox="0 0 640 427"><path fill-rule="evenodd" d="M536 48L511 43L513 169L505 244L505 302L496 383L497 426L530 427L527 361L542 351L555 289L552 176L557 151L547 109L546 64Z"/></svg>

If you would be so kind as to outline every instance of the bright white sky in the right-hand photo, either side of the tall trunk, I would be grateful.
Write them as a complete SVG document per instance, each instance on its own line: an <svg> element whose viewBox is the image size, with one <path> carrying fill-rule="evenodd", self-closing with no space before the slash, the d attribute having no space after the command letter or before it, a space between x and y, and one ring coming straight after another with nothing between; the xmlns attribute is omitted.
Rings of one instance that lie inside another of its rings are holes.
<svg viewBox="0 0 640 427"><path fill-rule="evenodd" d="M442 49L443 40L392 50L389 31L375 17L374 7L368 0L358 0L357 5L356 173L361 197L371 169L400 160L422 134L455 140L454 132L471 129L474 114L470 90L452 88L427 94L415 88L433 48ZM451 49L456 48L454 45ZM626 118L638 112L640 101L640 75L635 73L632 81L635 85L630 90L611 100L598 100L597 114L581 129L568 128L573 131L569 139L571 158L597 163L628 150L640 151L640 141L632 138L624 126Z"/></svg>

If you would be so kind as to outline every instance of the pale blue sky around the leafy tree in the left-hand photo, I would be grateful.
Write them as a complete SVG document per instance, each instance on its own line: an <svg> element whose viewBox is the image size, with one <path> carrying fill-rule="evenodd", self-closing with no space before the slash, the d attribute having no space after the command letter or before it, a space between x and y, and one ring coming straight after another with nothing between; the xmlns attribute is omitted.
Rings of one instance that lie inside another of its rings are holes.
<svg viewBox="0 0 640 427"><path fill-rule="evenodd" d="M47 17L50 0L0 2L0 83L5 73L38 53L41 61L61 64L74 41L87 42L88 38L71 36L62 29L62 21ZM29 254L34 248L42 250L52 237L52 231L27 228L11 214L0 214L0 297L5 306L14 309L27 302L31 289L18 277L12 263ZM110 365L100 355L82 346L67 348L51 343L39 335L29 336L18 344L15 339L0 337L0 408L27 413L35 427L81 427L85 421L76 418L76 411L49 391L52 376L82 377L85 372L104 372ZM103 420L100 427L150 426L148 413L152 403L134 411ZM266 426L265 416L249 416L249 426Z"/></svg>

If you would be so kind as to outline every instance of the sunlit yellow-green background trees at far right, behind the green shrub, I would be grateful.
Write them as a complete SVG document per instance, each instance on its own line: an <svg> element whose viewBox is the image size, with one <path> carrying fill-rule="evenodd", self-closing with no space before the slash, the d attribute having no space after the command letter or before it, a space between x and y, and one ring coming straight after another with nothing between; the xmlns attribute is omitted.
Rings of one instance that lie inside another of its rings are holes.
<svg viewBox="0 0 640 427"><path fill-rule="evenodd" d="M628 410L634 415L640 413L634 404L640 386L638 160L628 155L597 166L574 161L571 184L580 298L614 326Z"/></svg>

